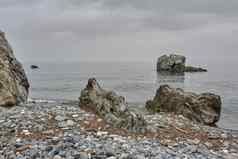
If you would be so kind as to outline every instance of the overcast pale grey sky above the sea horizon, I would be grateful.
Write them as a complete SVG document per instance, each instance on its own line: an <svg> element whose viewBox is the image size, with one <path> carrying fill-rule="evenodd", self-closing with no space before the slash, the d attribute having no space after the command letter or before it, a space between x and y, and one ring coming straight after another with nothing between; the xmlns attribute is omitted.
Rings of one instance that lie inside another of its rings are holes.
<svg viewBox="0 0 238 159"><path fill-rule="evenodd" d="M238 0L0 0L22 61L238 59Z"/></svg>

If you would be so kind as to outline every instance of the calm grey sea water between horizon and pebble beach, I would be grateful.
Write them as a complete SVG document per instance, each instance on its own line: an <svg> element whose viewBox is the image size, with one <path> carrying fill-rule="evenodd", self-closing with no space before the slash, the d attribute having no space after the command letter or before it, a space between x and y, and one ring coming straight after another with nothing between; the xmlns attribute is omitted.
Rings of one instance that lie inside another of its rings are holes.
<svg viewBox="0 0 238 159"><path fill-rule="evenodd" d="M153 98L160 84L170 84L197 93L221 95L223 110L219 126L238 130L236 61L205 63L208 73L187 73L184 77L158 75L155 63L38 63L39 70L24 65L31 83L31 98L77 100L88 78L95 77L103 88L125 96L128 102L144 104Z"/></svg>

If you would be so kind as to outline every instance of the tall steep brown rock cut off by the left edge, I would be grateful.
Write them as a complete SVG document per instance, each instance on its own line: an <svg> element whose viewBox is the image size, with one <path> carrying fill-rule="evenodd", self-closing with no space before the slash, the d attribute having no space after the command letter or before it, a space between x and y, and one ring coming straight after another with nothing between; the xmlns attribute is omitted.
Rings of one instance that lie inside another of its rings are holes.
<svg viewBox="0 0 238 159"><path fill-rule="evenodd" d="M0 106L14 106L27 101L29 83L22 65L0 31Z"/></svg>

